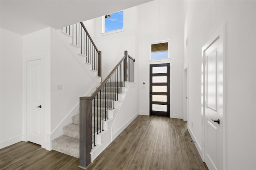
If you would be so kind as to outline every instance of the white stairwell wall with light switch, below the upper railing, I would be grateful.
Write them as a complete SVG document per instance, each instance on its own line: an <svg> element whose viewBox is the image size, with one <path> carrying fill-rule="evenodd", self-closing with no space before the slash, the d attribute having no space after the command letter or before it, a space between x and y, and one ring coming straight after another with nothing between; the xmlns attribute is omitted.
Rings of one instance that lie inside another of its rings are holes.
<svg viewBox="0 0 256 170"><path fill-rule="evenodd" d="M70 44L70 36L51 29L52 139L63 134L63 126L72 123L72 115L79 114L79 98L96 84L96 71L90 68L84 57L78 55L78 48ZM57 90L57 85L62 90Z"/></svg>

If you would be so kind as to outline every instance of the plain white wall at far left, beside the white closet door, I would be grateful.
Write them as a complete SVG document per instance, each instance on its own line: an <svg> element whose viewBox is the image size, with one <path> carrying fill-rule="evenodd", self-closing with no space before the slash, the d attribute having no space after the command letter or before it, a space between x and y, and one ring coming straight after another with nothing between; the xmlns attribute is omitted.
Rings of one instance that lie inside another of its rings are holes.
<svg viewBox="0 0 256 170"><path fill-rule="evenodd" d="M22 35L1 28L0 149L22 141Z"/></svg>

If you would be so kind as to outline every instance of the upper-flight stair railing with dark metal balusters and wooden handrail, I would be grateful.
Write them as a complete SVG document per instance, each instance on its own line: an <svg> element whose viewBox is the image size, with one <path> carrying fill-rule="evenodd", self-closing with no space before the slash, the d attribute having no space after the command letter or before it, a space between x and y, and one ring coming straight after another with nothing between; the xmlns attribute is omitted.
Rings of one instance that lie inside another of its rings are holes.
<svg viewBox="0 0 256 170"><path fill-rule="evenodd" d="M98 71L98 76L101 76L101 51L96 47L84 23L66 26L63 31L72 36L72 43L81 48L81 55L86 56L85 62L92 64L92 70Z"/></svg>

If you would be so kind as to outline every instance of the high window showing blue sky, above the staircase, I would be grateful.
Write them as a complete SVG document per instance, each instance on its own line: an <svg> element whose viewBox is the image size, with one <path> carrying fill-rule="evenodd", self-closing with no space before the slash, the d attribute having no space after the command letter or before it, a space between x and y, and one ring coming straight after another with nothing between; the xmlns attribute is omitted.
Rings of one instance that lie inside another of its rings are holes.
<svg viewBox="0 0 256 170"><path fill-rule="evenodd" d="M124 28L124 11L108 14L104 16L103 19L104 22L102 23L102 26L104 26L104 29L102 29L102 32L115 31Z"/></svg>

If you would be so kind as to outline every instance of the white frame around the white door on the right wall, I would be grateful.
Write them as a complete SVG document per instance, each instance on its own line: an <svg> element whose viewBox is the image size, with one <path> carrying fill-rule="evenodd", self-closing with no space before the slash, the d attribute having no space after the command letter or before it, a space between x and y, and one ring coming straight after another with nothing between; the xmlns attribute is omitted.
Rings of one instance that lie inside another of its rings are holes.
<svg viewBox="0 0 256 170"><path fill-rule="evenodd" d="M225 121L225 25L221 25L220 28L216 31L216 33L214 33L210 39L207 41L207 43L202 47L202 59L201 59L201 68L202 68L202 86L201 86L201 113L202 113L202 160L205 161L205 145L207 145L205 143L206 141L206 112L205 112L205 101L206 101L206 92L205 92L205 86L206 86L206 69L205 69L205 59L204 59L204 51L210 46L212 45L212 43L214 43L214 41L216 40L216 38L218 38L218 40L220 40L222 42L222 51L223 51L223 98L222 98L222 102L223 102L223 108L222 108L222 125L223 125L223 133L222 133L222 147L223 147L223 167L222 169L225 169L226 167L226 159L225 159L225 125L226 125L226 121Z"/></svg>

